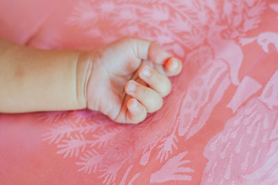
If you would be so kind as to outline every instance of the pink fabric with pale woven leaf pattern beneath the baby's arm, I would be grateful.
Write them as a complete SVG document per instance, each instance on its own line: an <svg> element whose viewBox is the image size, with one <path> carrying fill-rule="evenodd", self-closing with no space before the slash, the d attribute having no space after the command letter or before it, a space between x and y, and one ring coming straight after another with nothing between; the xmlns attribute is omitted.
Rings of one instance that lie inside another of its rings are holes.
<svg viewBox="0 0 278 185"><path fill-rule="evenodd" d="M89 51L123 36L183 60L163 108L140 125L0 114L0 184L278 184L276 1L0 1L0 37L20 44Z"/></svg>

